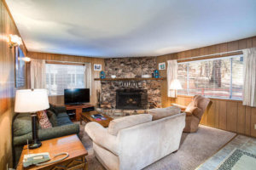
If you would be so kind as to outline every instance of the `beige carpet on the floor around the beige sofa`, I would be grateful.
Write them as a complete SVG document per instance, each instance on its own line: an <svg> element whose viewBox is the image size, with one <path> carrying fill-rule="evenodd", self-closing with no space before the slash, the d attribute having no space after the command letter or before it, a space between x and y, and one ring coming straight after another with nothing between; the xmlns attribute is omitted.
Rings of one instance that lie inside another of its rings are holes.
<svg viewBox="0 0 256 170"><path fill-rule="evenodd" d="M177 152L154 162L145 167L144 170L195 169L234 136L236 136L236 133L201 125L197 133L183 133L180 149ZM84 125L80 126L79 137L89 152L89 156L86 157L89 161L89 169L104 170L104 167L96 160L93 154L92 142L87 133L84 133Z"/></svg>

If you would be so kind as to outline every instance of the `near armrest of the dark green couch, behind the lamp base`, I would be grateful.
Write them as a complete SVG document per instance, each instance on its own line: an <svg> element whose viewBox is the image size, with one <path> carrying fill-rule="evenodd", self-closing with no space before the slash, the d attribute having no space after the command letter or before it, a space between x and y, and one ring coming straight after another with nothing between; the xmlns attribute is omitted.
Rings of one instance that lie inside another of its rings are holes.
<svg viewBox="0 0 256 170"><path fill-rule="evenodd" d="M67 136L70 134L78 134L79 133L79 124L68 124L59 127L52 127L48 129L39 129L38 130L38 139L43 141L47 139L55 139L61 136ZM32 132L26 133L22 136L14 137L14 145L24 145L26 144L26 139L29 142L32 141Z"/></svg>

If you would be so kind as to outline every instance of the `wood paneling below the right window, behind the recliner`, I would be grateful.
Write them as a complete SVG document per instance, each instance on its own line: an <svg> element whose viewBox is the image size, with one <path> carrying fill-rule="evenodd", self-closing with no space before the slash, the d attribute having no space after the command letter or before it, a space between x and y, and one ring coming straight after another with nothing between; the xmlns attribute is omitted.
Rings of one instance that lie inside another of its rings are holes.
<svg viewBox="0 0 256 170"><path fill-rule="evenodd" d="M178 96L171 103L188 105L192 97ZM256 137L256 108L242 105L239 100L211 99L207 111L201 117L201 124L230 132Z"/></svg>

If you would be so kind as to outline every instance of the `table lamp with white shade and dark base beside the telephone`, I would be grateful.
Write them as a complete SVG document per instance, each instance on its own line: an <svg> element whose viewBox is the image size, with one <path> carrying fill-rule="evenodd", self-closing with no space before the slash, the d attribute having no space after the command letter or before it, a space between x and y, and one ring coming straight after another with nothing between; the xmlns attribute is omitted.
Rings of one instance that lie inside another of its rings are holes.
<svg viewBox="0 0 256 170"><path fill-rule="evenodd" d="M38 148L42 143L38 140L37 112L49 108L46 89L17 90L15 98L15 112L32 114L32 144L30 149Z"/></svg>

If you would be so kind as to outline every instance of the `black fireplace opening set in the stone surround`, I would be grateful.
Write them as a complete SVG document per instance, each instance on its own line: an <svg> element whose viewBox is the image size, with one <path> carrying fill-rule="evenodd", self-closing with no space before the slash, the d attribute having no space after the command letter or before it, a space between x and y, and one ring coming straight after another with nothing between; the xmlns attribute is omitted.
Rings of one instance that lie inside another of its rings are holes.
<svg viewBox="0 0 256 170"><path fill-rule="evenodd" d="M117 109L147 109L148 94L143 89L118 89L116 90Z"/></svg>

